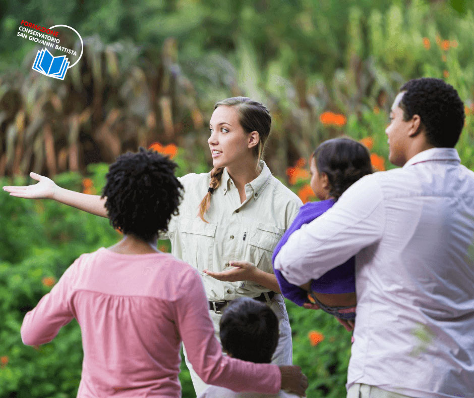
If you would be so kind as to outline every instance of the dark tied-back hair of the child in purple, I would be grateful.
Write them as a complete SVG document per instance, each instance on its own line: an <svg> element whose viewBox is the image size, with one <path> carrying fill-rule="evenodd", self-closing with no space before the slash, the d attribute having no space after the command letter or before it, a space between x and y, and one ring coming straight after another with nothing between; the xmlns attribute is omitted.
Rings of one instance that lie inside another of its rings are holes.
<svg viewBox="0 0 474 398"><path fill-rule="evenodd" d="M354 182L373 172L368 148L349 137L322 142L312 156L319 175L328 176L329 196L335 201Z"/></svg>

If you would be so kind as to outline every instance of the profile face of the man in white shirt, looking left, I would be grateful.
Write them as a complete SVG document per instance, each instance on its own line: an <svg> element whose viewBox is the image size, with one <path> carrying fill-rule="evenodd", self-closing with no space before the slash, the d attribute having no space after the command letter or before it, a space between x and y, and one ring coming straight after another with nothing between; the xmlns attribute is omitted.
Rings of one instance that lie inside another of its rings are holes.
<svg viewBox="0 0 474 398"><path fill-rule="evenodd" d="M409 122L403 120L403 110L399 107L404 92L399 92L393 101L390 110L390 124L385 129L388 136L388 160L395 166L403 166L406 159L406 146L408 143Z"/></svg>

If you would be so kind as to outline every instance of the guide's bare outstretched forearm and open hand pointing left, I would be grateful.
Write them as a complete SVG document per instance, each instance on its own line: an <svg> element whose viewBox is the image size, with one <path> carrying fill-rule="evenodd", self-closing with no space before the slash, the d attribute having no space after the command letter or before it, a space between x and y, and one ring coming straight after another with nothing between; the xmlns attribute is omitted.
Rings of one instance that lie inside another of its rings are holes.
<svg viewBox="0 0 474 398"><path fill-rule="evenodd" d="M100 195L89 195L61 188L50 178L36 173L30 173L30 177L39 182L26 186L4 186L3 189L10 192L11 196L28 199L52 199L96 216L107 217L105 197L101 199Z"/></svg>

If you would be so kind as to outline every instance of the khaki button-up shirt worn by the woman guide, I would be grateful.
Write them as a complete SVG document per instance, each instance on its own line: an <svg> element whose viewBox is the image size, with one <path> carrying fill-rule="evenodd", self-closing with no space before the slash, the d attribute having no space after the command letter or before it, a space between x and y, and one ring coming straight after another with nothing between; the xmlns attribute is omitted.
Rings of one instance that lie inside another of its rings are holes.
<svg viewBox="0 0 474 398"><path fill-rule="evenodd" d="M230 261L249 261L273 273L272 253L285 230L302 206L300 198L272 176L265 162L262 172L245 185L246 200L224 169L217 189L211 195L209 210L199 217L199 204L207 194L210 173L180 177L185 188L178 216L173 216L167 235L173 256L186 261L202 275L209 300L255 297L268 288L252 281L222 282L202 272L232 269Z"/></svg>

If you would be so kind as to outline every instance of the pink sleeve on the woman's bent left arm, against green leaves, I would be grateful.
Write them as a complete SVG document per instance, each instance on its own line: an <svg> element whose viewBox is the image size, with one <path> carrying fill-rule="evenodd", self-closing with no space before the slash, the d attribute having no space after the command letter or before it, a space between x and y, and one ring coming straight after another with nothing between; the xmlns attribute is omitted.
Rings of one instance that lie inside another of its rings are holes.
<svg viewBox="0 0 474 398"><path fill-rule="evenodd" d="M39 345L51 341L74 318L68 302L71 268L72 266L66 270L38 305L25 315L20 330L24 344Z"/></svg>

